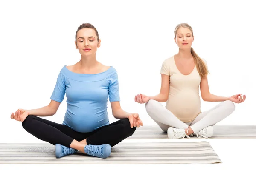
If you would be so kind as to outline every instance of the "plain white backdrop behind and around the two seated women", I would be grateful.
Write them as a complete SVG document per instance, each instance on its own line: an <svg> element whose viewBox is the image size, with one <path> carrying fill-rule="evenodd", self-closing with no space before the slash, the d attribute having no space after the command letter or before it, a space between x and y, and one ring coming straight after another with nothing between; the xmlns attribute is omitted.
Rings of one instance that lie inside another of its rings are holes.
<svg viewBox="0 0 256 170"><path fill-rule="evenodd" d="M174 29L188 23L192 47L206 59L210 92L220 96L246 94L244 103L219 125L255 124L255 8L250 1L1 1L0 3L0 143L42 142L10 119L18 108L46 106L59 71L80 59L75 33L91 23L102 40L96 59L119 75L121 106L139 113L144 125L156 125L138 93L160 92L162 62L177 54ZM57 113L46 117L62 123L66 97ZM164 105L165 103L163 103ZM201 103L205 111L218 102ZM111 115L110 122L116 121Z"/></svg>

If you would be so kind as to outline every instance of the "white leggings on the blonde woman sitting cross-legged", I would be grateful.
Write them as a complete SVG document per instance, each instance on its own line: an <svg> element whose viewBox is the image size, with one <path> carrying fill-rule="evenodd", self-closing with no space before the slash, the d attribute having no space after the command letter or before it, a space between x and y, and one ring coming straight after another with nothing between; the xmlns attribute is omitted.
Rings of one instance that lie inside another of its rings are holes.
<svg viewBox="0 0 256 170"><path fill-rule="evenodd" d="M145 104L148 115L159 127L167 132L169 127L186 129L190 126L194 133L207 126L213 126L229 116L235 110L235 105L230 100L219 103L214 108L200 113L192 122L182 122L172 112L166 109L160 102L149 100Z"/></svg>

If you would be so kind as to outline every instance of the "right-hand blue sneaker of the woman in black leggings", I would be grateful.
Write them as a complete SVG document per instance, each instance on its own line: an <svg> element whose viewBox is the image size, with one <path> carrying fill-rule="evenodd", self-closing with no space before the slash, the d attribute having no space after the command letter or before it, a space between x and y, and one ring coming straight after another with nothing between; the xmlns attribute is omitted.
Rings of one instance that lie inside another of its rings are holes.
<svg viewBox="0 0 256 170"><path fill-rule="evenodd" d="M96 156L99 158L107 158L111 153L111 146L109 144L102 145L86 145L84 147L84 152L87 155Z"/></svg>

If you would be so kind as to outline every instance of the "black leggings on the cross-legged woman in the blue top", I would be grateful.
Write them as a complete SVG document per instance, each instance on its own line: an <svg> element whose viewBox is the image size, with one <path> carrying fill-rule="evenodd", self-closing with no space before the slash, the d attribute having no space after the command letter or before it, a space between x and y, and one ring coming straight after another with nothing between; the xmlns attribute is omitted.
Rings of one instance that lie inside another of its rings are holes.
<svg viewBox="0 0 256 170"><path fill-rule="evenodd" d="M66 147L70 147L74 139L77 141L87 139L87 144L110 144L113 147L131 136L136 130L136 127L131 128L129 119L121 119L109 125L102 126L93 132L81 133L72 130L66 125L51 122L33 115L27 116L25 121L22 122L22 127L38 139L53 145L61 144Z"/></svg>

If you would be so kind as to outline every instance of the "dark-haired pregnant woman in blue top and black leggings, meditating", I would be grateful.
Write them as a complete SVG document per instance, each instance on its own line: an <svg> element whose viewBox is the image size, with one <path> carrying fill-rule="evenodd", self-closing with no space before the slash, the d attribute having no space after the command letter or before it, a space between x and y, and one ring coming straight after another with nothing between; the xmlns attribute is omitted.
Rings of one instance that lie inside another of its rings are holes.
<svg viewBox="0 0 256 170"><path fill-rule="evenodd" d="M57 158L78 150L106 158L111 147L131 136L143 123L137 113L127 113L120 107L115 68L96 60L100 47L96 28L89 23L79 26L75 44L81 60L61 69L49 105L33 110L18 109L11 118L21 121L23 128L33 136L54 144ZM62 124L38 117L54 115L65 94L67 111ZM120 119L111 124L108 97L113 116Z"/></svg>

